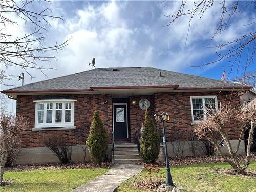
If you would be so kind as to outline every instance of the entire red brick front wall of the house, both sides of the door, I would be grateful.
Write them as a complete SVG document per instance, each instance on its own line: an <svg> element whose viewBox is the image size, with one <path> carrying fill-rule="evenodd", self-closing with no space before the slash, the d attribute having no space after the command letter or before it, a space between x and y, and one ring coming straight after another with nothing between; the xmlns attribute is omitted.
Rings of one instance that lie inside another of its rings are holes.
<svg viewBox="0 0 256 192"><path fill-rule="evenodd" d="M166 111L171 114L170 122L166 123L167 140L190 140L191 125L191 107L190 96L199 95L217 95L218 92L177 92L177 93L155 93L152 96L130 96L126 99L112 99L110 94L76 94L76 95L34 95L34 96L18 96L17 97L17 115L22 114L29 120L29 127L22 131L22 143L24 147L41 147L41 138L47 134L59 134L65 137L70 145L79 145L84 139L79 137L80 131L89 130L93 112L95 109L99 111L100 117L109 133L110 140L112 138L112 103L127 102L129 122L129 136L131 141L135 142L135 129L139 131L144 121L145 110L142 110L138 103L142 98L150 101L151 115L155 112L161 113ZM75 102L75 126L76 130L50 130L50 131L32 131L34 127L35 103L33 100L47 97L68 97L77 99ZM239 103L239 98L234 97L230 100L229 92L222 92L218 95L218 102L230 102L232 105ZM136 104L133 105L132 101ZM103 104L104 101L108 103ZM157 129L162 130L162 125L157 125ZM239 130L238 123L232 121L227 125L229 129L229 137L238 139Z"/></svg>

